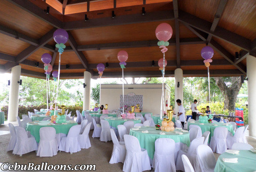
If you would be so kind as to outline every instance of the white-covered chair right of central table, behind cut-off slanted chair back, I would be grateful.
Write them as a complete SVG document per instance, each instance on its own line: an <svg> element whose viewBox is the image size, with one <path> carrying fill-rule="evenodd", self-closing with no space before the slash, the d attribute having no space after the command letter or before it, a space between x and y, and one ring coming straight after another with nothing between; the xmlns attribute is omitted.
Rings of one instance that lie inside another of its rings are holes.
<svg viewBox="0 0 256 172"><path fill-rule="evenodd" d="M200 145L204 144L204 137L199 137L196 139L193 139L191 142L188 151L181 149L178 153L177 161L176 161L176 170L182 170L183 172L185 171L184 169L184 164L182 162L181 156L185 154L189 161L191 162L192 166L194 169L199 169L199 162L197 160L197 155L196 155L196 148Z"/></svg>

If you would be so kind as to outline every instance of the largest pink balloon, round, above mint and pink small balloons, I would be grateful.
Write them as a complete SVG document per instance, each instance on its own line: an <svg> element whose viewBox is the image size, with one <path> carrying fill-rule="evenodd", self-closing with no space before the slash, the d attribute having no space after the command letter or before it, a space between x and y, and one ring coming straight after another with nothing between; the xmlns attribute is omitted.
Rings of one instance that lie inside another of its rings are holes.
<svg viewBox="0 0 256 172"><path fill-rule="evenodd" d="M172 27L167 23L161 23L156 28L156 36L158 40L169 40L172 37Z"/></svg>

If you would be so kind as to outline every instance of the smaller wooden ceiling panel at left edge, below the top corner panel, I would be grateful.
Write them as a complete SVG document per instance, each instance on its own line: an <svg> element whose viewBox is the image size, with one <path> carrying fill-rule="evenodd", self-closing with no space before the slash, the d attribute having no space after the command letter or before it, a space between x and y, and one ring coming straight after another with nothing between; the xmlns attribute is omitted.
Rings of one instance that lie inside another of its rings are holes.
<svg viewBox="0 0 256 172"><path fill-rule="evenodd" d="M17 56L21 51L29 47L29 43L0 33L0 53Z"/></svg>

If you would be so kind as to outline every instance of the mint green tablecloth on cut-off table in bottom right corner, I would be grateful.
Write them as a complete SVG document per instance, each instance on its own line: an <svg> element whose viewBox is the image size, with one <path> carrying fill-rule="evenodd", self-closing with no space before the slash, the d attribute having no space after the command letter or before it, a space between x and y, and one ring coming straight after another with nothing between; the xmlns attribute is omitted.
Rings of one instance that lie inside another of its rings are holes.
<svg viewBox="0 0 256 172"><path fill-rule="evenodd" d="M223 162L222 158L238 158L237 163ZM256 153L240 150L239 154L219 155L214 172L253 172L256 171Z"/></svg>

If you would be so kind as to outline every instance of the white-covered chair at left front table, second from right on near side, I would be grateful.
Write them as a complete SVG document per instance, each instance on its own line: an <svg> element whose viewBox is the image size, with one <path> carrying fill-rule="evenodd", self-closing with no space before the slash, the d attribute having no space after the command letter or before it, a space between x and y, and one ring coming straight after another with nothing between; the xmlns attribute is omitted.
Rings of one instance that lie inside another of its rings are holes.
<svg viewBox="0 0 256 172"><path fill-rule="evenodd" d="M78 135L81 131L81 125L74 125L69 129L68 136L62 137L60 140L59 151L70 152L79 152L81 147L78 143Z"/></svg>

